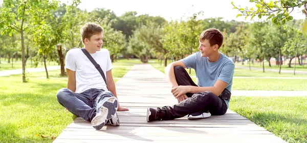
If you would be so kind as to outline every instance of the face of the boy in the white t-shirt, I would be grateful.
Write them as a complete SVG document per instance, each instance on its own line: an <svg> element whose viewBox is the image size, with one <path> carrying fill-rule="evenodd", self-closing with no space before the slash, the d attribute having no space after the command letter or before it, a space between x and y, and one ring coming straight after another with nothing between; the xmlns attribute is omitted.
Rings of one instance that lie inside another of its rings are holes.
<svg viewBox="0 0 307 143"><path fill-rule="evenodd" d="M90 39L85 38L84 43L86 47L89 47L92 51L100 51L103 44L102 33L93 35Z"/></svg>

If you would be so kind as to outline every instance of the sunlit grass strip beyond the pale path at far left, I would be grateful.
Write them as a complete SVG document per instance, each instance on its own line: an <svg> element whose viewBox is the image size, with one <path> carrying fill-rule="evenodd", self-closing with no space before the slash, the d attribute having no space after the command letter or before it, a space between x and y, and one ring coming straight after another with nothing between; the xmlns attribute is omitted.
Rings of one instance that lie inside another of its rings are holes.
<svg viewBox="0 0 307 143"><path fill-rule="evenodd" d="M34 64L34 63L33 63ZM26 63L26 69L27 68L34 68L34 65L31 64L31 61L27 61ZM47 66L58 66L58 63L56 62L46 62ZM13 67L12 67L13 65ZM3 59L1 60L1 64L0 64L0 71L4 71L4 70L15 70L15 69L22 69L23 67L23 63L21 61L14 61L12 63L8 63L8 61L3 61ZM39 63L37 65L37 67L44 67L43 63Z"/></svg>

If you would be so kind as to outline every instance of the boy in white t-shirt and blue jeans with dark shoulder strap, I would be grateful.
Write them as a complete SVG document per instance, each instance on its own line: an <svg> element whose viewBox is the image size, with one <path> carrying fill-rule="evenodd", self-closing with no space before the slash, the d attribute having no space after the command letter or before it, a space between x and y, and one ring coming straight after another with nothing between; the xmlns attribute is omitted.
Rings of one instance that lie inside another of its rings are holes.
<svg viewBox="0 0 307 143"><path fill-rule="evenodd" d="M81 27L80 33L85 50L100 65L106 83L80 48L71 49L65 57L67 88L57 92L57 100L70 112L91 122L95 129L99 130L105 124L118 126L116 110L128 109L118 103L109 51L101 49L103 28L88 22Z"/></svg>

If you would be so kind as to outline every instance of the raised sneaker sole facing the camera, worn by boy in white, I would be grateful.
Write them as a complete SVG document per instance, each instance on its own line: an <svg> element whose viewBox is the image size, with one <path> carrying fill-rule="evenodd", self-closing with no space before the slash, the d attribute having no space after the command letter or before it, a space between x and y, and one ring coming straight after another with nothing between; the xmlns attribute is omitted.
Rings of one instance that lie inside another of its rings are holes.
<svg viewBox="0 0 307 143"><path fill-rule="evenodd" d="M118 108L118 101L116 97L110 97L107 99L101 106L100 112L96 115L91 124L95 128L96 126L100 126L96 129L101 129L107 120L111 119L112 116L116 113Z"/></svg>

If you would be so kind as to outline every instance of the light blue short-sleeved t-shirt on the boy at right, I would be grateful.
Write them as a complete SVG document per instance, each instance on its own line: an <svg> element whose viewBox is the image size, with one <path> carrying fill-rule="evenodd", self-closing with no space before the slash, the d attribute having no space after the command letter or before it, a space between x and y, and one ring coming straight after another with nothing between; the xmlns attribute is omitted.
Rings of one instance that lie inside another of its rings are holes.
<svg viewBox="0 0 307 143"><path fill-rule="evenodd" d="M195 52L181 60L187 68L192 68L196 73L196 84L199 87L213 87L217 79L228 83L226 89L231 92L234 63L221 53L215 62L209 62L208 57L202 57L201 52ZM229 100L225 100L227 108Z"/></svg>

